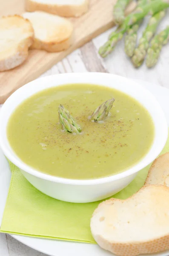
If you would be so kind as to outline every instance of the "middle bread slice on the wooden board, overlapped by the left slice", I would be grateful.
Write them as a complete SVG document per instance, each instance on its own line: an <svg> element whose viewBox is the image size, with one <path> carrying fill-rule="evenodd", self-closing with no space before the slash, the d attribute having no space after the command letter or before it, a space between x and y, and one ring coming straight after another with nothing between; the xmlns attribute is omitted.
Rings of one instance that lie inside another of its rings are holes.
<svg viewBox="0 0 169 256"><path fill-rule="evenodd" d="M66 18L46 12L25 12L23 17L29 19L34 28L32 49L60 52L70 47L73 26Z"/></svg>

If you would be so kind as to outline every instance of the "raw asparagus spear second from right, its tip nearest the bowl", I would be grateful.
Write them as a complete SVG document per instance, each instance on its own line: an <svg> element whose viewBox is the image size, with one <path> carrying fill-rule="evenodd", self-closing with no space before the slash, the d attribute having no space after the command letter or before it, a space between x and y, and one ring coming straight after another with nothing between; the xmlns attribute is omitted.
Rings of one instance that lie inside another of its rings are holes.
<svg viewBox="0 0 169 256"><path fill-rule="evenodd" d="M150 18L149 23L143 32L143 36L140 39L140 43L132 56L132 63L135 67L140 67L140 65L143 63L144 58L146 57L147 49L149 48L149 42L156 32L160 20L162 20L165 15L166 11L161 11Z"/></svg>

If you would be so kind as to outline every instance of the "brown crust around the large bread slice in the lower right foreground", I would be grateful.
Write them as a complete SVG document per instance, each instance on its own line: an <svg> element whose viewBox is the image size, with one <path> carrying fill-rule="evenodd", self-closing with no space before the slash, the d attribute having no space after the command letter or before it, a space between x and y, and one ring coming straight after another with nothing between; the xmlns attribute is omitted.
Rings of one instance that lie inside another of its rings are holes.
<svg viewBox="0 0 169 256"><path fill-rule="evenodd" d="M146 189L148 187L160 187L166 190L169 193L169 188L166 186L161 185L145 185L143 186L138 192L141 192L143 189ZM138 193L137 192L137 193ZM137 194L136 193L136 194ZM132 195L130 198L133 198L136 194ZM129 200L130 198L126 199ZM116 198L111 198L107 201L102 202L99 204L97 209L95 209L93 216L97 214L97 212L100 211L100 207L103 207L105 204L112 204L113 202L117 201L126 201L126 200L120 200ZM140 220L141 221L141 220ZM149 253L159 253L163 250L169 249L169 233L166 236L158 237L157 239L152 239L149 241L143 241L143 242L109 242L104 239L103 236L100 234L96 234L95 230L93 230L93 223L91 219L91 231L92 235L100 247L102 247L105 250L109 250L110 252L118 255L118 256L137 256L139 254L149 254ZM136 227L137 228L137 227Z"/></svg>

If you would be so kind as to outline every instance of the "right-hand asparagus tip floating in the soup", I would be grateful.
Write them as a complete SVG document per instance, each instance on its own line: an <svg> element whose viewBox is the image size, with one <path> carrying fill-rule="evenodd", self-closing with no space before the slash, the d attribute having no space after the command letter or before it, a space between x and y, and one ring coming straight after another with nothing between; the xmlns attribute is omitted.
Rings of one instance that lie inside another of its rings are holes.
<svg viewBox="0 0 169 256"><path fill-rule="evenodd" d="M95 122L101 121L108 116L109 111L112 108L113 102L115 99L109 99L106 102L103 102L96 110L92 113L92 116L90 117L91 120L94 120Z"/></svg>

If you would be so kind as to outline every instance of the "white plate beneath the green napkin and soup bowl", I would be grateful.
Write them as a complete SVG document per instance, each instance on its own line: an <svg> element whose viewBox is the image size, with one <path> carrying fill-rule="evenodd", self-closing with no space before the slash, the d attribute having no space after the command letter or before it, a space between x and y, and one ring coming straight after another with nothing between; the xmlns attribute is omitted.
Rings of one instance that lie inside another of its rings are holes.
<svg viewBox="0 0 169 256"><path fill-rule="evenodd" d="M137 80L136 80L137 81ZM149 84L144 81L137 81L150 90L158 102L160 103L163 111L166 115L167 123L169 125L169 90L154 84ZM6 197L8 195L9 183L10 183L11 172L9 169L8 162L0 150L0 223L3 216L3 209L6 203ZM50 256L113 256L105 250L102 250L96 244L83 244L67 241L47 240L32 238L26 236L12 235L15 239L26 244L27 246L38 250L42 253L46 253ZM168 256L169 250L153 254L157 256ZM152 256L146 255L144 256Z"/></svg>

